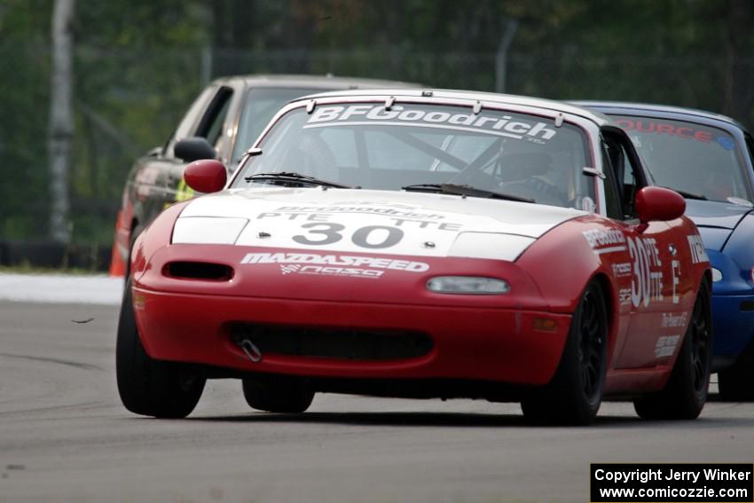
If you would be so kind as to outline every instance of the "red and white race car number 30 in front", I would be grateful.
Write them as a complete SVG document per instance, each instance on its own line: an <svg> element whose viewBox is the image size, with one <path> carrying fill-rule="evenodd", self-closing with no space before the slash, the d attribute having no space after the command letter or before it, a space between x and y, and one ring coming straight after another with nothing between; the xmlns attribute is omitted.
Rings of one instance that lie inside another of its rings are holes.
<svg viewBox="0 0 754 503"><path fill-rule="evenodd" d="M117 376L134 413L185 417L205 381L258 410L318 391L520 401L587 424L603 397L694 419L711 271L679 194L600 114L543 99L354 90L283 108L230 181L137 239Z"/></svg>

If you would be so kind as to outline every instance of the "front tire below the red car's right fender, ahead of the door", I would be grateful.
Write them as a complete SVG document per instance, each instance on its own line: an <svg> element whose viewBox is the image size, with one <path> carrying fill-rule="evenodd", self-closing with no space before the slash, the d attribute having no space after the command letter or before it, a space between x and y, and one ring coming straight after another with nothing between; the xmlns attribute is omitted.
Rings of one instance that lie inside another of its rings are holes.
<svg viewBox="0 0 754 503"><path fill-rule="evenodd" d="M584 290L553 379L522 400L523 415L538 424L587 425L597 416L605 387L608 306L599 282Z"/></svg>

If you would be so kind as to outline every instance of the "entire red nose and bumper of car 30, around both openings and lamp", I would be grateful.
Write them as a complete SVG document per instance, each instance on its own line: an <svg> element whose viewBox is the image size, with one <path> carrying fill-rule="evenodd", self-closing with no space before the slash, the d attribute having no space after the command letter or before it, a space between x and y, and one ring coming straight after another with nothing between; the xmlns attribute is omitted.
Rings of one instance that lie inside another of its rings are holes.
<svg viewBox="0 0 754 503"><path fill-rule="evenodd" d="M152 358L255 373L531 385L550 381L560 363L571 317L548 310L528 274L514 263L419 257L428 262L428 271L354 279L281 273L279 263L240 264L247 252L245 247L171 245L153 254L134 276L133 287L137 326ZM232 279L175 279L165 272L171 261L206 257L232 267ZM452 274L503 278L512 292L427 291L428 278ZM549 321L543 324L543 318ZM421 334L431 349L380 359L271 352L254 363L234 337L238 325Z"/></svg>

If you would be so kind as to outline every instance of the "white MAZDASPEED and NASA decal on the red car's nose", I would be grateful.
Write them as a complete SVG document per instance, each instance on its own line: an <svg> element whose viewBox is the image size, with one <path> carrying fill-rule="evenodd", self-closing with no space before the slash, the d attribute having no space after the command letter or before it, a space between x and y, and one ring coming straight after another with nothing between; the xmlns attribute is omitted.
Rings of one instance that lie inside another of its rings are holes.
<svg viewBox="0 0 754 503"><path fill-rule="evenodd" d="M317 274L322 276L348 276L350 278L378 279L385 271L424 272L429 264L373 256L319 255L311 253L248 253L240 263L278 263L280 273Z"/></svg>

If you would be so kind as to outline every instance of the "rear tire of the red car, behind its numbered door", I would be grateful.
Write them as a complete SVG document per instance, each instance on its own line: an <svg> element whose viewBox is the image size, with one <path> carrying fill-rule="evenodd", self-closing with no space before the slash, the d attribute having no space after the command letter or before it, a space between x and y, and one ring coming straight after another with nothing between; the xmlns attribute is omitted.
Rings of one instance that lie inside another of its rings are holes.
<svg viewBox="0 0 754 503"><path fill-rule="evenodd" d="M633 408L646 420L694 420L707 401L712 366L710 287L704 279L696 295L678 359L662 391L640 397Z"/></svg>

